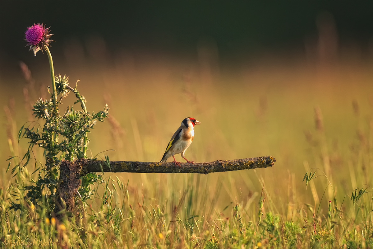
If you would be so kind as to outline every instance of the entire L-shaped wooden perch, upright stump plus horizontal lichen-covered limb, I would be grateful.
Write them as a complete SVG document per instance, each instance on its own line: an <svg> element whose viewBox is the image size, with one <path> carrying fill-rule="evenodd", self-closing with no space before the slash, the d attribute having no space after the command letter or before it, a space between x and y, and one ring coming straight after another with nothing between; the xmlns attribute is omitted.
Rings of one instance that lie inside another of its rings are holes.
<svg viewBox="0 0 373 249"><path fill-rule="evenodd" d="M61 220L66 214L72 215L75 208L75 196L81 184L80 177L90 172L136 172L136 173L200 173L233 171L240 169L267 168L273 166L276 159L273 156L245 158L214 162L197 162L194 164L174 162L129 162L78 159L74 162L62 160L60 164L60 179L56 193L54 215Z"/></svg>

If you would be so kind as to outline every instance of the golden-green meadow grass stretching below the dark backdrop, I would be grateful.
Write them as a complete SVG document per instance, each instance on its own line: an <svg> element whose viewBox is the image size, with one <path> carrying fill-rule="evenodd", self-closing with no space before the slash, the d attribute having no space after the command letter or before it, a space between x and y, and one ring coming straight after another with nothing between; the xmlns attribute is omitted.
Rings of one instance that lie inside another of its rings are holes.
<svg viewBox="0 0 373 249"><path fill-rule="evenodd" d="M123 52L112 62L104 53L65 56L69 63L60 60L56 72L81 80L88 111L110 107L109 121L89 134L89 156L159 161L181 120L192 116L202 124L189 160L271 155L277 162L209 175L105 174L87 212L60 222L43 206L8 208L35 168L12 180L5 173L7 156L25 152L15 137L31 115L21 101L2 103L4 248L373 248L372 62L341 60L329 71L304 61L218 70L158 55ZM46 94L35 85L48 75L31 71L36 84L14 98L32 103ZM35 160L42 153L35 149Z"/></svg>

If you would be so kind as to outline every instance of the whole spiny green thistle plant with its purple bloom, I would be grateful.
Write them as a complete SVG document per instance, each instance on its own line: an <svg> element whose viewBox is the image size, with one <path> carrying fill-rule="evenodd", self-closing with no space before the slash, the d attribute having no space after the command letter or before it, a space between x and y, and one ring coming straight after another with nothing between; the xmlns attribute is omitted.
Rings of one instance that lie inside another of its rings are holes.
<svg viewBox="0 0 373 249"><path fill-rule="evenodd" d="M78 84L75 87L69 85L69 77L55 76L53 59L48 47L50 47L49 28L45 28L44 24L34 24L25 32L25 41L30 46L29 51L33 51L34 55L38 51L46 51L49 60L49 68L51 74L51 88L48 87L50 99L39 99L32 106L33 114L38 122L31 122L23 125L18 133L18 140L25 137L29 140L29 147L21 162L12 169L12 174L19 174L23 171L31 159L34 146L44 149L43 156L45 163L35 164L38 172L37 181L29 180L31 185L26 186L25 196L20 196L31 202L34 206L47 205L49 211L54 208L54 195L57 187L57 179L59 176L59 164L61 160L72 161L74 159L86 158L88 148L87 134L93 129L97 121L104 121L109 114L109 108L106 105L103 111L90 113L85 106L85 98L77 90ZM73 104L80 103L80 110L69 106L65 113L60 115L59 104L70 93L74 93L76 101ZM11 159L11 158L10 158ZM35 161L38 162L38 160ZM8 167L9 168L9 167ZM90 173L82 177L82 187L79 189L79 196L85 203L90 199L93 191L90 184L102 182L100 175ZM90 183L90 184L87 184ZM15 209L22 208L23 202L11 203L11 207Z"/></svg>

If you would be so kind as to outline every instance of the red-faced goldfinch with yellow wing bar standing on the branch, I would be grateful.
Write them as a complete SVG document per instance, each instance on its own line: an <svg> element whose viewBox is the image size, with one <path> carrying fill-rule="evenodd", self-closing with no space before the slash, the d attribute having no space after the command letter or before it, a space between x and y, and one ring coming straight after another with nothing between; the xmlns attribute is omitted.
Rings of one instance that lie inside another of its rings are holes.
<svg viewBox="0 0 373 249"><path fill-rule="evenodd" d="M175 155L181 153L181 157L188 163L194 163L184 157L185 150L188 149L194 138L194 125L201 124L195 118L185 118L178 130L171 137L170 142L167 145L166 151L164 152L161 162L166 162L167 159L172 156L175 162L175 166L180 164L176 162Z"/></svg>

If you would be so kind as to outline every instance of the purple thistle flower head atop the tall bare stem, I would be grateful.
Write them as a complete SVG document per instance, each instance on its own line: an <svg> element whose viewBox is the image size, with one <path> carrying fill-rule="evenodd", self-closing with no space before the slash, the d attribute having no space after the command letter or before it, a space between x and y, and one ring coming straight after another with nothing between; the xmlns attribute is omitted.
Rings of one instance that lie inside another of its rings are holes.
<svg viewBox="0 0 373 249"><path fill-rule="evenodd" d="M41 50L43 52L43 46L50 46L49 40L52 34L49 34L49 28L45 28L44 24L34 24L28 27L25 32L25 41L27 46L30 46L30 50L34 51L34 55Z"/></svg>

